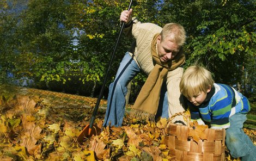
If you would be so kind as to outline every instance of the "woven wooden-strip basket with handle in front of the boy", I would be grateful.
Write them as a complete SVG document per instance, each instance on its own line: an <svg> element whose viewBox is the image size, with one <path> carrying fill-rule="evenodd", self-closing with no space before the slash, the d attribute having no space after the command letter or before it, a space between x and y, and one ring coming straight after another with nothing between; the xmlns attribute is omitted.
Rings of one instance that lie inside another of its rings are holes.
<svg viewBox="0 0 256 161"><path fill-rule="evenodd" d="M171 121L178 113L173 115L165 128L164 144L169 148L173 160L225 160L225 129L205 129L206 140L199 139L198 143L189 136L192 127L176 125ZM189 121L186 117L186 120Z"/></svg>

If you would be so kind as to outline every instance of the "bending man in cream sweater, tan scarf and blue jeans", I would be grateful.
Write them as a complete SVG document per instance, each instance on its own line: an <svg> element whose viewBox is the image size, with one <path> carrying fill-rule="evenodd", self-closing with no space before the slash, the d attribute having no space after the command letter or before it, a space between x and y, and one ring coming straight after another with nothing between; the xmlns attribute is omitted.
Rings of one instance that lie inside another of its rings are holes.
<svg viewBox="0 0 256 161"><path fill-rule="evenodd" d="M162 117L184 111L179 91L182 64L185 62L182 52L186 39L184 28L176 23L168 23L163 28L153 23L141 23L131 14L132 9L124 10L120 21L125 22L125 35L135 38L136 44L132 45L132 52L125 54L114 82L109 85L105 127L109 123L116 127L122 125L127 84L141 71L148 78L131 110L132 116L154 121L160 110ZM166 94L160 101L162 93Z"/></svg>

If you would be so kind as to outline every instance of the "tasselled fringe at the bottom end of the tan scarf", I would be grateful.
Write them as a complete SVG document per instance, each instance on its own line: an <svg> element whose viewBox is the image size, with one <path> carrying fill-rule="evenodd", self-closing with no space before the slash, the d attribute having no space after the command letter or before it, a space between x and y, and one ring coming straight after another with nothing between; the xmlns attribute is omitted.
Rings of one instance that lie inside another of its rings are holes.
<svg viewBox="0 0 256 161"><path fill-rule="evenodd" d="M149 121L150 123L155 123L156 114L151 114L141 109L131 108L130 116L136 119Z"/></svg>

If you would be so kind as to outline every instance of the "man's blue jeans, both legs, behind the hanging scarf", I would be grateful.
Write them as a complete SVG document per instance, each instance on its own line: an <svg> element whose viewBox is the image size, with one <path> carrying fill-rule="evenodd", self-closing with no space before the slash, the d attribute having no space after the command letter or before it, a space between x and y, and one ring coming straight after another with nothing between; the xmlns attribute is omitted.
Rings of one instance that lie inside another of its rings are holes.
<svg viewBox="0 0 256 161"><path fill-rule="evenodd" d="M125 96L127 94L127 84L140 72L136 61L127 52L120 63L114 82L109 85L107 98L107 109L103 126L121 126L125 113ZM165 87L165 88L164 88ZM168 98L166 83L163 83L159 108L156 114L168 118Z"/></svg>

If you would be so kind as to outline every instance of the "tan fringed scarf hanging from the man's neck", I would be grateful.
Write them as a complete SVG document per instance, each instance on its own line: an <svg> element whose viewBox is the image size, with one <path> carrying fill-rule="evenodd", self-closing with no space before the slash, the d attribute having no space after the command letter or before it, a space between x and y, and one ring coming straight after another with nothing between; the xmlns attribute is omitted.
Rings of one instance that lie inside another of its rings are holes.
<svg viewBox="0 0 256 161"><path fill-rule="evenodd" d="M147 119L153 122L159 106L160 91L164 78L166 78L168 71L172 71L185 63L185 55L182 48L172 61L162 63L156 51L158 36L159 34L156 34L151 43L151 54L155 66L142 86L130 113L132 117Z"/></svg>

